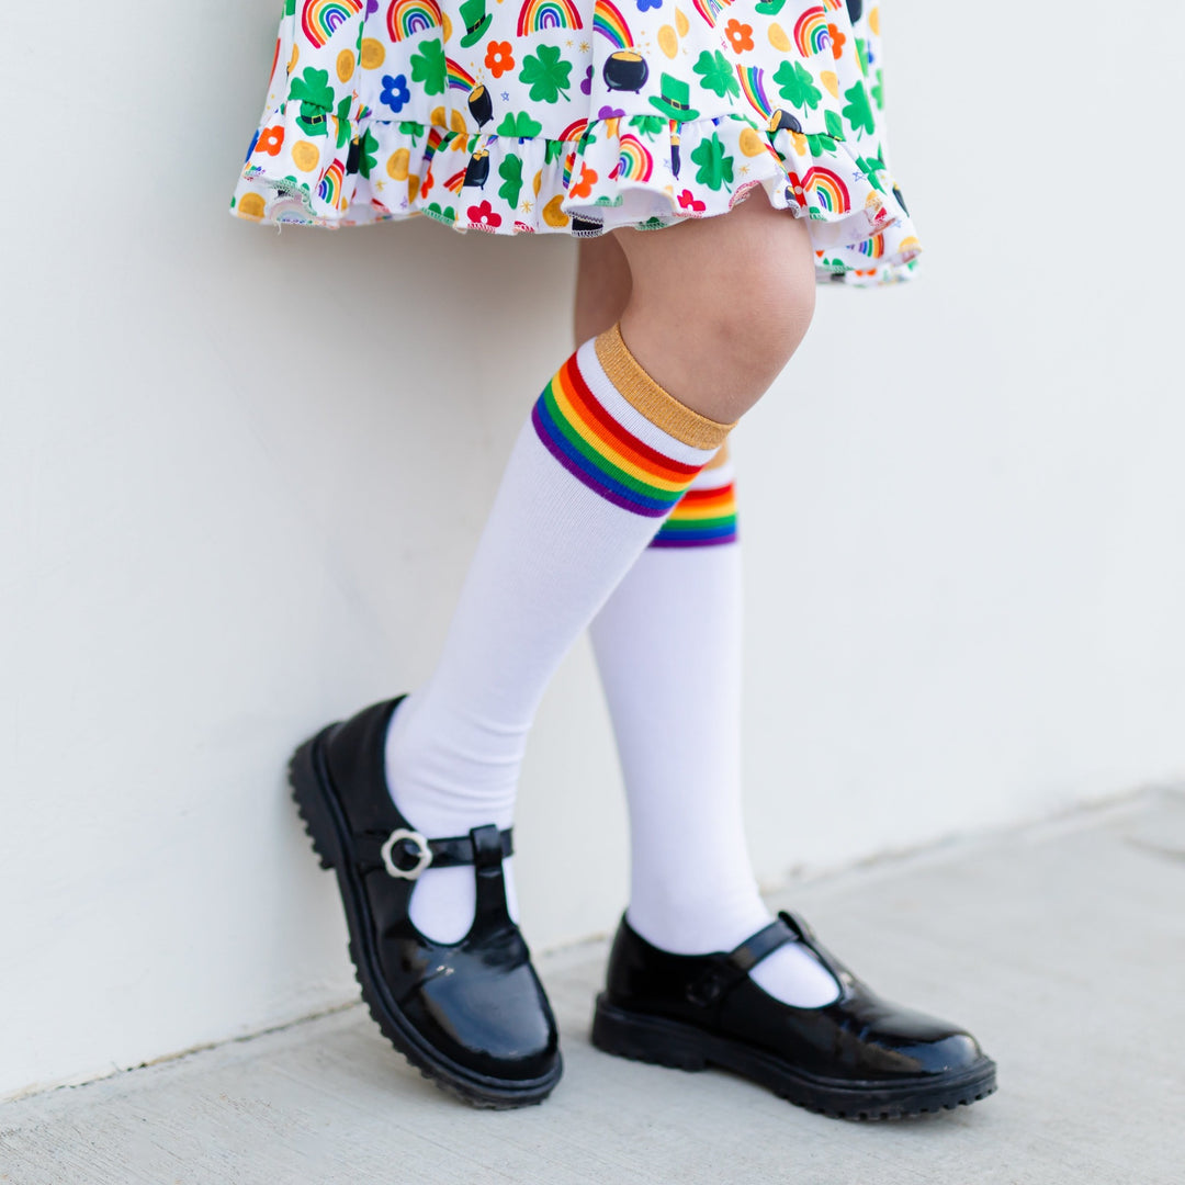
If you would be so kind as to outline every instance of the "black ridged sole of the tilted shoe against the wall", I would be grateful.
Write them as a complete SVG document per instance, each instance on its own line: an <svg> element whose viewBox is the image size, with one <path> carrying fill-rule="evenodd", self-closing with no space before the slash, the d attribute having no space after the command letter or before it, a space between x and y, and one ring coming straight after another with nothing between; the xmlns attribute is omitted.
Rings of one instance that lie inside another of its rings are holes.
<svg viewBox="0 0 1185 1185"><path fill-rule="evenodd" d="M337 873L350 930L350 959L370 1014L383 1036L414 1069L462 1102L493 1110L542 1103L563 1072L563 1063L558 1058L552 1072L526 1082L476 1074L457 1065L425 1042L392 999L379 967L370 903L356 871L351 832L325 760L324 745L334 728L337 725L331 724L322 729L293 754L288 763L288 782L321 867Z"/></svg>

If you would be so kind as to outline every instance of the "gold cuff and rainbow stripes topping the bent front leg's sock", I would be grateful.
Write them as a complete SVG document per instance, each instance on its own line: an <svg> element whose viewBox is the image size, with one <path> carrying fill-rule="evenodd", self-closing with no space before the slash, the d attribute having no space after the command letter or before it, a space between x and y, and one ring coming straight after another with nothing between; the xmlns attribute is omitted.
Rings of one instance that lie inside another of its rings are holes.
<svg viewBox="0 0 1185 1185"><path fill-rule="evenodd" d="M672 511L732 427L705 419L664 391L616 325L594 351L576 351L556 371L531 421L574 478L647 518Z"/></svg>

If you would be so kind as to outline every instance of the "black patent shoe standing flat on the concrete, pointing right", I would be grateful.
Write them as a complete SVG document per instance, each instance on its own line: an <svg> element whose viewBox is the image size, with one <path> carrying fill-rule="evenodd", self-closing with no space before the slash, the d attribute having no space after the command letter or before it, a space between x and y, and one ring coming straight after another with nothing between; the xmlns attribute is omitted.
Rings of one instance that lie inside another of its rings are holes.
<svg viewBox="0 0 1185 1185"><path fill-rule="evenodd" d="M834 975L837 1000L793 1007L749 978L787 942ZM971 1033L882 1000L784 911L736 950L711 955L667 954L622 918L592 1044L680 1070L732 1070L838 1119L949 1110L995 1090L995 1063Z"/></svg>

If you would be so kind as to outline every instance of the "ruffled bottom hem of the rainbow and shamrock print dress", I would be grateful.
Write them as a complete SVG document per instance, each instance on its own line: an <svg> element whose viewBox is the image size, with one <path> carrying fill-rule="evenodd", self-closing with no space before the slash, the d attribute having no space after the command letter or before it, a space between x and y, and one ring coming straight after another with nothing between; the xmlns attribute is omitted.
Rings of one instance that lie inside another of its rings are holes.
<svg viewBox="0 0 1185 1185"><path fill-rule="evenodd" d="M231 201L238 217L335 229L427 214L461 232L594 237L723 214L761 185L775 209L809 219L820 280L903 280L921 250L880 160L742 114L621 116L550 140L365 109L348 122L329 116L316 136L299 109L273 109L256 133Z"/></svg>

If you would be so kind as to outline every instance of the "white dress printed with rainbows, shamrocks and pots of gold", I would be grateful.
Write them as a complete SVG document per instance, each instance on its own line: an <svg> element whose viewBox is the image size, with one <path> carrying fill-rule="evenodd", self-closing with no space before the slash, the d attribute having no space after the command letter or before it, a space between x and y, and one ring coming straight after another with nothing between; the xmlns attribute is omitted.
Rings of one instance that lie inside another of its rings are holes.
<svg viewBox="0 0 1185 1185"><path fill-rule="evenodd" d="M821 278L901 278L918 243L885 162L879 19L863 0L286 0L232 211L594 236L761 185L811 220Z"/></svg>

